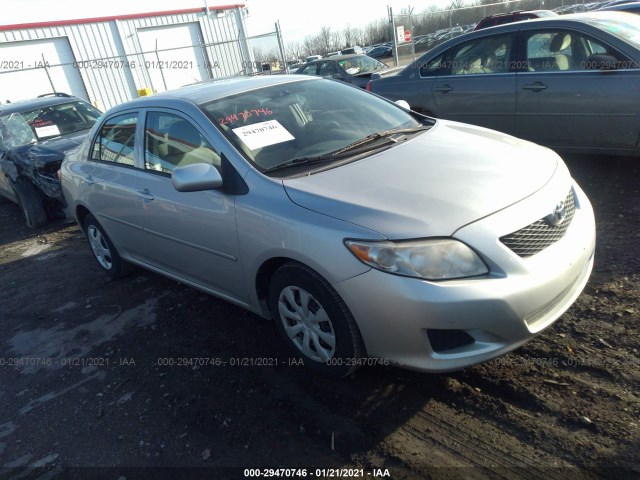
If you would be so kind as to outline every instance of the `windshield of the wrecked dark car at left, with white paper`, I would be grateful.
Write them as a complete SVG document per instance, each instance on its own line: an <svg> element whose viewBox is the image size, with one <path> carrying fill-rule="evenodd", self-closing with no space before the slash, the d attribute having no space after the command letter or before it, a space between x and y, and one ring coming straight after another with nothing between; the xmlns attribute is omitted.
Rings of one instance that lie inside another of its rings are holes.
<svg viewBox="0 0 640 480"><path fill-rule="evenodd" d="M16 148L87 130L101 113L86 102L69 102L0 117L4 148Z"/></svg>

